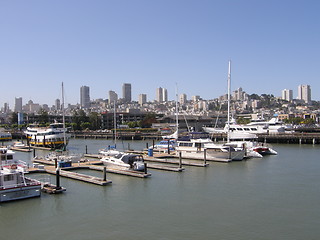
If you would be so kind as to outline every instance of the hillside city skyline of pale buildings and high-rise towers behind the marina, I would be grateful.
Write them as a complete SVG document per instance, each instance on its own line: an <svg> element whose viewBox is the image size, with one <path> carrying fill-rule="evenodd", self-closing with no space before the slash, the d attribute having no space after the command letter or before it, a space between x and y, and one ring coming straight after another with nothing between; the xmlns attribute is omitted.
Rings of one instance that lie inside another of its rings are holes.
<svg viewBox="0 0 320 240"><path fill-rule="evenodd" d="M282 119L292 116L305 117L309 116L318 121L317 106L312 106L311 101L311 87L309 85L298 86L298 96L293 99L293 91L284 89L281 97L273 97L273 95L263 94L258 96L256 94L247 94L240 87L234 90L231 94L231 109L232 114L236 116L246 116L255 118L258 116L272 117L273 115L282 116ZM122 123L128 121L139 121L148 113L155 113L159 117L172 117L176 113L176 99L168 100L168 91L166 88L159 87L155 90L155 99L148 101L147 94L139 94L138 101L132 100L132 89L130 83L122 85L122 96L110 90L107 99L90 98L90 87L80 87L80 103L64 106L66 116L71 117L74 111L82 109L86 113L97 112L101 115L111 114L116 106L116 111L122 114ZM192 118L195 116L195 121L199 119L207 119L207 124L213 123L220 115L220 118L225 118L227 104L227 95L222 95L218 98L205 100L201 96L195 95L190 99L187 95L182 93L177 96L179 114L184 115L185 118ZM56 99L55 104L49 107L47 104L34 103L29 100L23 105L22 98L15 98L15 106L13 110L5 105L2 108L1 123L8 122L10 112L16 112L20 116L20 123L31 123L35 119L30 116L36 116L40 111L47 111L49 115L60 116L62 113L62 100ZM317 103L317 102L316 102ZM28 116L28 117L26 117ZM138 116L138 117L132 117ZM224 116L224 117L223 117ZM56 117L57 118L57 117ZM168 120L168 119L167 119ZM168 120L171 121L171 120ZM192 120L191 120L192 121ZM108 126L110 124L107 124ZM107 127L104 124L103 127Z"/></svg>

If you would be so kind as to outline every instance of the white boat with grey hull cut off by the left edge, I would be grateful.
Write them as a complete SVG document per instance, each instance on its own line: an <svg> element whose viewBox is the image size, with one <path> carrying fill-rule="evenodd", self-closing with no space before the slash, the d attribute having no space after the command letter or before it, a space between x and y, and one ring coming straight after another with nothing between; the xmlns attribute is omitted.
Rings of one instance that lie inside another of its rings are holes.
<svg viewBox="0 0 320 240"><path fill-rule="evenodd" d="M13 152L0 148L0 202L39 197L41 183L25 177L27 164L13 159Z"/></svg>

